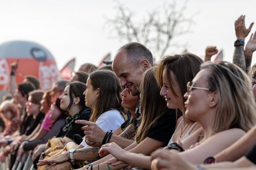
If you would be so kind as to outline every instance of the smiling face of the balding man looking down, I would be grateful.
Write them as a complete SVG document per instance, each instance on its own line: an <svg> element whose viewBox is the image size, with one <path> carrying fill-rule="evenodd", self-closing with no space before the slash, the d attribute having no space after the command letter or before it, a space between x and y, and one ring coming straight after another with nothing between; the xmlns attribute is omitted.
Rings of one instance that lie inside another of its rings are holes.
<svg viewBox="0 0 256 170"><path fill-rule="evenodd" d="M144 73L142 66L135 68L127 61L124 53L119 53L115 56L112 68L115 75L120 79L121 85L126 87L132 96L137 96L141 93L141 79Z"/></svg>

